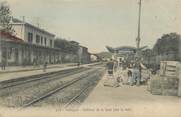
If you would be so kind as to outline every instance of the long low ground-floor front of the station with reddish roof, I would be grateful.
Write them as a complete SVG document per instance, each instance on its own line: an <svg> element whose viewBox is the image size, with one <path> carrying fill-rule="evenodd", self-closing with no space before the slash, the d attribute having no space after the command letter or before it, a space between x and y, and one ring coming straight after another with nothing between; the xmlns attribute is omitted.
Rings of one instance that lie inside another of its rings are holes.
<svg viewBox="0 0 181 117"><path fill-rule="evenodd" d="M41 65L61 63L63 53L59 49L29 44L10 34L1 33L0 63L6 65Z"/></svg>

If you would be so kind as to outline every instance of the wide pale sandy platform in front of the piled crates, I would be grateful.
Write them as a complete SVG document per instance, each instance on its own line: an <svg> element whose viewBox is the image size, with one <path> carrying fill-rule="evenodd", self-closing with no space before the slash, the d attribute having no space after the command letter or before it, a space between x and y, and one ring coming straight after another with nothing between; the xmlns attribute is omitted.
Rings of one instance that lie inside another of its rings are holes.
<svg viewBox="0 0 181 117"><path fill-rule="evenodd" d="M146 85L119 87L103 85L106 75L90 93L81 108L128 117L180 117L181 98L152 95ZM101 114L100 114L101 116Z"/></svg>

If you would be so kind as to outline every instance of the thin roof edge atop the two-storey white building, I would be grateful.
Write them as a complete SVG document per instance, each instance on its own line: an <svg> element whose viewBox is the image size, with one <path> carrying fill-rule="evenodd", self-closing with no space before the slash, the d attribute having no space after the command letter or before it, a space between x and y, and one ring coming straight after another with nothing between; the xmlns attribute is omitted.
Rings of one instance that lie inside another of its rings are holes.
<svg viewBox="0 0 181 117"><path fill-rule="evenodd" d="M17 19L17 18L12 18L11 24L12 24L12 25L26 25L26 26L30 26L30 27L32 27L32 28L35 28L35 29L41 31L41 32L47 33L47 34L49 34L49 35L51 35L51 36L55 36L53 33L50 33L50 32L48 32L48 31L46 31L46 30L44 30L44 29L41 29L41 28L39 28L39 27L37 27L37 26L34 26L34 25L32 25L32 24L30 24L30 23L28 23L28 22L21 21L21 20L19 20L19 19Z"/></svg>

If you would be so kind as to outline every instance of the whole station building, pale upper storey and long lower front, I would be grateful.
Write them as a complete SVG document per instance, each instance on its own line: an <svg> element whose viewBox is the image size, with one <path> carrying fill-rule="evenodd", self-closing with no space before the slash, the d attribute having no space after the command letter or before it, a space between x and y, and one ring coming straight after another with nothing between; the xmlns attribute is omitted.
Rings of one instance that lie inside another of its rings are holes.
<svg viewBox="0 0 181 117"><path fill-rule="evenodd" d="M60 63L63 53L54 48L55 35L27 22L12 19L13 34L1 32L0 61L7 65Z"/></svg>

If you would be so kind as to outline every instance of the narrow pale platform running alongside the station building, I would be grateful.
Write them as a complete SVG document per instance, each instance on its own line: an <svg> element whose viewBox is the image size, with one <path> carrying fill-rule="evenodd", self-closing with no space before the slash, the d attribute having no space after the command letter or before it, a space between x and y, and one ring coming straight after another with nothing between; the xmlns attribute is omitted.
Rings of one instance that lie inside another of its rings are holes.
<svg viewBox="0 0 181 117"><path fill-rule="evenodd" d="M81 67L85 67L88 65L94 65L94 64L85 64L85 65L81 65ZM43 74L48 74L52 72L73 69L73 68L77 68L75 63L49 65L47 67L46 72L43 72L42 66L38 68L34 68L33 66L27 66L25 68L18 67L18 66L9 67L5 71L0 71L0 82L5 81L5 80L18 79L22 77L29 77L33 75L43 75Z"/></svg>

